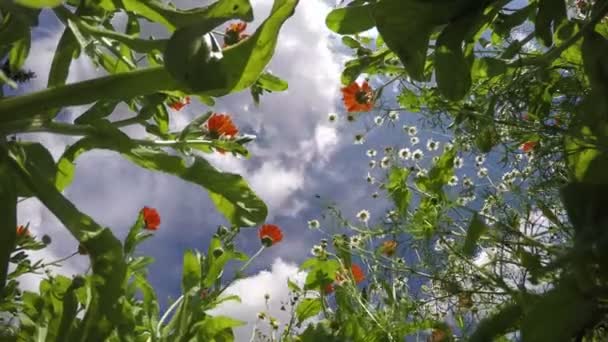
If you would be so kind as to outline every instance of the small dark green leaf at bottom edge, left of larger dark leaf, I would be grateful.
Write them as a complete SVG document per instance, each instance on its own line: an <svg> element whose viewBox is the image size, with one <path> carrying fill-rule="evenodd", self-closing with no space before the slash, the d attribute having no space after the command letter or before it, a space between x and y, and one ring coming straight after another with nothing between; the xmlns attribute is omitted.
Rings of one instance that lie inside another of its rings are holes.
<svg viewBox="0 0 608 342"><path fill-rule="evenodd" d="M503 336L516 330L517 323L522 315L522 308L517 304L507 304L492 316L486 317L471 335L470 342L495 341L497 337Z"/></svg>

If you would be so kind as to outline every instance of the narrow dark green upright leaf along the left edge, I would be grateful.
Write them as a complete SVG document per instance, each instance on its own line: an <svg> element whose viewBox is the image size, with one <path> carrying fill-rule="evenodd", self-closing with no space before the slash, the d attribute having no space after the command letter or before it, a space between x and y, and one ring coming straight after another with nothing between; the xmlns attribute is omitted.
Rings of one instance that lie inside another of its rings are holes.
<svg viewBox="0 0 608 342"><path fill-rule="evenodd" d="M9 259L17 239L17 177L9 163L8 150L0 145L0 293L4 293Z"/></svg>

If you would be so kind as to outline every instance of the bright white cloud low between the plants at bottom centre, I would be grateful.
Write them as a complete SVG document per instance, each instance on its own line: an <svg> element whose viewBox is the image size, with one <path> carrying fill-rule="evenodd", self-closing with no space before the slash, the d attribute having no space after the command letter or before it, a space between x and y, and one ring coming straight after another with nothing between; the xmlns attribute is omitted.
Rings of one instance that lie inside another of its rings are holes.
<svg viewBox="0 0 608 342"><path fill-rule="evenodd" d="M266 312L276 318L282 329L291 317L288 311L281 310L282 302L289 301L288 278L301 286L306 274L299 272L295 264L286 263L280 258L275 259L270 271L261 271L254 276L238 280L228 287L226 294L238 295L241 298L240 303L225 302L209 313L226 315L247 322L247 325L235 329L236 341L249 340L258 322L259 312ZM264 298L265 294L270 295L268 306ZM257 327L264 332L270 331L267 319L258 322Z"/></svg>

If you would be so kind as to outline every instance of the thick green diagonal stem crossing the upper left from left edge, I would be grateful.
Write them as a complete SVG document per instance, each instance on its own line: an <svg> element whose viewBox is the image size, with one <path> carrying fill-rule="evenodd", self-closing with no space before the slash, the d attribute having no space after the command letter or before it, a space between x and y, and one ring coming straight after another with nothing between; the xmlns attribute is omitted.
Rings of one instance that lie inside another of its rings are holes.
<svg viewBox="0 0 608 342"><path fill-rule="evenodd" d="M125 100L177 88L177 83L162 66L119 73L1 100L0 123L34 118L67 106L99 100Z"/></svg>

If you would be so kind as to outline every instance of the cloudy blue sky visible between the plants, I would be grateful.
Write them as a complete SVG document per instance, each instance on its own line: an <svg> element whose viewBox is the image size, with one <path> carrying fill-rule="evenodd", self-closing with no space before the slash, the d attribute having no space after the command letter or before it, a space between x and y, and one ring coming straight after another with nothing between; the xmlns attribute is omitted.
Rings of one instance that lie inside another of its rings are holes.
<svg viewBox="0 0 608 342"><path fill-rule="evenodd" d="M204 5L208 1L175 2L180 8L190 8L195 3ZM269 13L272 1L253 0L252 4L255 21L249 24L249 32ZM342 46L340 37L325 26L325 16L332 5L323 0L300 1L295 15L282 29L268 69L289 82L288 91L264 95L259 106L255 106L249 93L244 91L218 99L213 108L215 112L231 114L240 131L256 135L257 140L248 145L252 155L248 160L220 154L205 157L223 171L241 174L268 205L267 223L280 226L285 236L281 243L268 248L255 260L247 270L246 279L228 290L240 295L242 302L229 303L214 311L248 322L237 330L239 341L248 339L257 312L265 310L266 293L271 296L271 314L279 321L288 318L279 310L280 302L287 300L287 278L303 281L304 273L299 272L298 265L310 257L311 247L325 237L309 230L308 220L320 218L330 203L337 203L345 217L352 220L362 209L370 210L371 221L383 215L387 202L382 196L372 199L375 189L365 180L369 172L366 150L404 146L409 138L402 126L415 124L418 119L413 114L401 113L396 122L387 122L371 131L366 137L367 144L353 143L354 135L369 130L374 122L371 115L354 124L346 122L339 78L350 51ZM116 22L123 19L118 16ZM62 30L52 14L43 15L41 26L34 32L25 66L38 77L20 91L45 88L48 67ZM146 25L144 30L155 36L162 32L154 25ZM81 57L72 63L68 82L102 74L86 57ZM392 91L387 90L385 95ZM61 118L73 120L86 108L88 106L68 108ZM207 110L194 101L179 112L172 111L172 129L184 127ZM338 120L332 123L328 114L334 112ZM112 119L130 115L126 107L119 106ZM419 130L422 142L416 148L424 149L425 137L430 134L435 139L446 140L437 132ZM132 137L146 137L140 128L127 128L125 132ZM19 138L42 142L56 159L77 139L38 133L23 134ZM224 218L214 209L204 189L170 175L141 169L116 153L88 152L79 157L76 164L75 180L65 191L66 196L82 212L111 227L119 238L124 238L142 207L153 207L160 213L160 229L154 238L140 246L138 253L155 258L149 280L166 307L167 298L180 294L183 252L187 249L206 251L217 226L226 224ZM33 255L35 259L59 259L77 249L76 240L36 199L19 204L18 219L20 224L29 222L34 235L47 234L53 240L49 248ZM324 223L322 221L322 226ZM236 245L253 254L260 247L257 228L243 229ZM72 275L87 268L88 259L76 256L57 272ZM40 278L28 276L21 280L23 288L34 289Z"/></svg>

